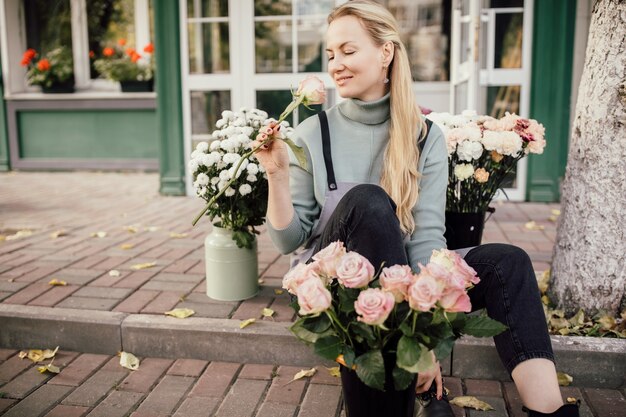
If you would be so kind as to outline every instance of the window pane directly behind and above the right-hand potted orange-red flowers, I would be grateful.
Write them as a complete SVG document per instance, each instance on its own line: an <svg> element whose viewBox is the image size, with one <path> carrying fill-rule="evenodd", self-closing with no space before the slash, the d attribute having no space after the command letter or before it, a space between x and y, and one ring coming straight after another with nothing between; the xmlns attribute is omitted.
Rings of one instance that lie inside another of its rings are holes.
<svg viewBox="0 0 626 417"><path fill-rule="evenodd" d="M116 44L120 39L127 47L140 53L146 45L135 44L135 2L134 0L89 0L87 1L87 33L91 56L91 78L100 74L93 62L103 57L106 46ZM93 52L93 54L91 54Z"/></svg>

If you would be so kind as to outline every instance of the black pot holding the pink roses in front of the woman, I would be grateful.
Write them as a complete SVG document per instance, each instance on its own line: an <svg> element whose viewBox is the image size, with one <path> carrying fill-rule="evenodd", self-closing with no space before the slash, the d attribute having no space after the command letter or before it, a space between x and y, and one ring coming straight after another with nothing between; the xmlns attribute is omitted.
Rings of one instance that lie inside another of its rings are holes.
<svg viewBox="0 0 626 417"><path fill-rule="evenodd" d="M413 417L415 410L415 384L397 391L393 386L395 356L385 358L385 391L368 387L356 372L341 366L341 388L346 417Z"/></svg>

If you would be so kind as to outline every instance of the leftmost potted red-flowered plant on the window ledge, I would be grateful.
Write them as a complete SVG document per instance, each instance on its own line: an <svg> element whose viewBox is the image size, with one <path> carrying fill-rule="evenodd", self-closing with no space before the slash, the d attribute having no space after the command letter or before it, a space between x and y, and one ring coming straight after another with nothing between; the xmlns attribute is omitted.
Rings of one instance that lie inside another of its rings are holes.
<svg viewBox="0 0 626 417"><path fill-rule="evenodd" d="M53 49L44 56L30 48L24 52L21 64L28 67L28 84L41 86L44 93L74 92L72 54L67 48Z"/></svg>

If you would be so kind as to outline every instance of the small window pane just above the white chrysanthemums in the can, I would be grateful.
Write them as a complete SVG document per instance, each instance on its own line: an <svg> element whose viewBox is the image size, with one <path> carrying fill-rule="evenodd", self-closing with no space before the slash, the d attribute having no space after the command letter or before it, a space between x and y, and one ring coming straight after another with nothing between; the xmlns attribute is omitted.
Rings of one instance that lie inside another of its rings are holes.
<svg viewBox="0 0 626 417"><path fill-rule="evenodd" d="M230 109L230 91L191 92L191 134L210 134L222 111Z"/></svg>

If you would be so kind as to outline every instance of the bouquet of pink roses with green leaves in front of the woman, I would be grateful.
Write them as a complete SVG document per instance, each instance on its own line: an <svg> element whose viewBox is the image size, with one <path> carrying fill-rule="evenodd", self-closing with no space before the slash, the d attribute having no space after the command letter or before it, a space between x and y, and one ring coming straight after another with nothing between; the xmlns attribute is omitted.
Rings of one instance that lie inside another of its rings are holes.
<svg viewBox="0 0 626 417"><path fill-rule="evenodd" d="M506 329L486 316L465 315L471 311L467 292L480 279L456 252L433 251L419 267L419 273L408 265L376 271L333 242L283 278L299 316L291 331L379 390L389 373L384 358L392 355L394 388L403 390L433 366L433 357L448 356L461 335L488 337Z"/></svg>

